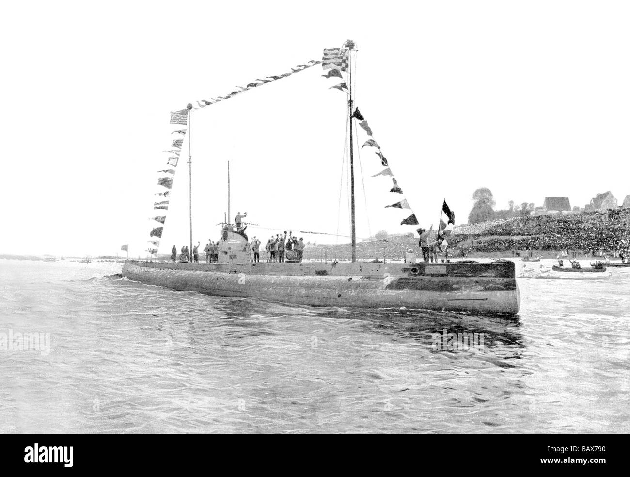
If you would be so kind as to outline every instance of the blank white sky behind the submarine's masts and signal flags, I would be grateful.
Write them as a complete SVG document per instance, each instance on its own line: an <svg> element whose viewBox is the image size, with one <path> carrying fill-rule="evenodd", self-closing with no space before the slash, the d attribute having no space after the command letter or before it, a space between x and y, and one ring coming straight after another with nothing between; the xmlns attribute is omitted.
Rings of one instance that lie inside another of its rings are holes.
<svg viewBox="0 0 630 477"><path fill-rule="evenodd" d="M169 112L321 59L348 38L355 105L372 148L355 155L357 237L410 211L464 223L472 194L496 208L630 194L630 4L585 1L29 2L0 18L5 205L0 253L145 256ZM321 67L193 112L193 242L227 209L250 237L349 235L347 95ZM357 132L362 144L367 136ZM187 141L186 141L187 142ZM159 251L189 241L188 146ZM358 163L358 165L357 165ZM396 199L396 197L394 197ZM388 202L389 201L389 202ZM345 237L305 240L342 243Z"/></svg>

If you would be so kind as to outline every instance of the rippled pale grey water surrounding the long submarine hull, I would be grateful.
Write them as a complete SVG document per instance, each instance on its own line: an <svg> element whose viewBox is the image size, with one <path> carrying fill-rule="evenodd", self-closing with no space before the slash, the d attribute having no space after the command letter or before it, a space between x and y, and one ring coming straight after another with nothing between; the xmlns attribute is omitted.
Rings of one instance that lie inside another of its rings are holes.
<svg viewBox="0 0 630 477"><path fill-rule="evenodd" d="M519 279L512 320L217 298L120 269L0 260L0 432L630 430L627 269ZM442 350L444 329L483 345Z"/></svg>

